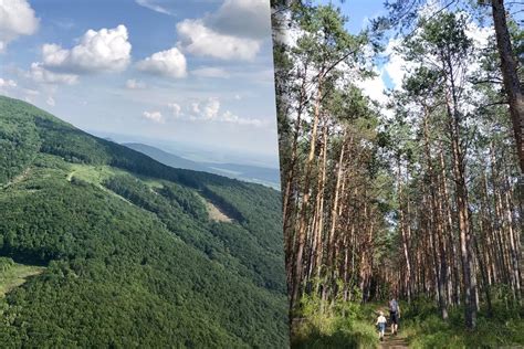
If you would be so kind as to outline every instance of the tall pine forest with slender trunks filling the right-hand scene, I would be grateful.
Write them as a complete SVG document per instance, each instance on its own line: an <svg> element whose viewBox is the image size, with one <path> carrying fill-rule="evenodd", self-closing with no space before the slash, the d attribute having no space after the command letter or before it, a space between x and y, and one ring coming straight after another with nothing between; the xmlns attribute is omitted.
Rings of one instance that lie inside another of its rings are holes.
<svg viewBox="0 0 524 349"><path fill-rule="evenodd" d="M415 347L524 343L513 4L386 1L352 33L350 3L273 1L293 347L377 343L394 296Z"/></svg>

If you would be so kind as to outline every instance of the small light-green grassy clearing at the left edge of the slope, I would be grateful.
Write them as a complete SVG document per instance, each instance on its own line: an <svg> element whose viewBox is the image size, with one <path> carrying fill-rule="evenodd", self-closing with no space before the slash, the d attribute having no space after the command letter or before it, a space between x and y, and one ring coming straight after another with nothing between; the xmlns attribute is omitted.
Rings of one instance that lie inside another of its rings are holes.
<svg viewBox="0 0 524 349"><path fill-rule="evenodd" d="M14 287L19 287L30 276L41 274L45 267L14 263L11 258L0 257L0 298Z"/></svg>

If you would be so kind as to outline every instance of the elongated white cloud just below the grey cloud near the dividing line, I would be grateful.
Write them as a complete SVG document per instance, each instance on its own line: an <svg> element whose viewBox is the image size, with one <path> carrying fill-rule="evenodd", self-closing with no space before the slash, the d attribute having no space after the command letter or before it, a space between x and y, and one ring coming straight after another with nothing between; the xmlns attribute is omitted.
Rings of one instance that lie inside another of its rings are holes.
<svg viewBox="0 0 524 349"><path fill-rule="evenodd" d="M202 20L184 20L177 24L178 46L195 55L221 60L251 61L260 51L258 40L221 34L206 27Z"/></svg>

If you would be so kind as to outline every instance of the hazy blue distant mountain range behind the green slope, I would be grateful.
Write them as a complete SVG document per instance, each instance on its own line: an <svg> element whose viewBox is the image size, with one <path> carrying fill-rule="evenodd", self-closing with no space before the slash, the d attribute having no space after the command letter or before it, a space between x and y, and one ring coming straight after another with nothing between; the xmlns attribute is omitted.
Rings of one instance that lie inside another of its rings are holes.
<svg viewBox="0 0 524 349"><path fill-rule="evenodd" d="M139 142L124 142L123 145L174 168L205 171L280 189L277 169L239 163L197 162Z"/></svg>

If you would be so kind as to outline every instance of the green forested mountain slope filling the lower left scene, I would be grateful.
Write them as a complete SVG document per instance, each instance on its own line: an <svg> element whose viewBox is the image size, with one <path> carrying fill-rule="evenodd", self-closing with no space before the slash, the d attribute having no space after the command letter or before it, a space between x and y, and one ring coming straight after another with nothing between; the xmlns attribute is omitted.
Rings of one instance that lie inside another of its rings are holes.
<svg viewBox="0 0 524 349"><path fill-rule="evenodd" d="M277 191L0 97L1 343L285 347L281 222Z"/></svg>

